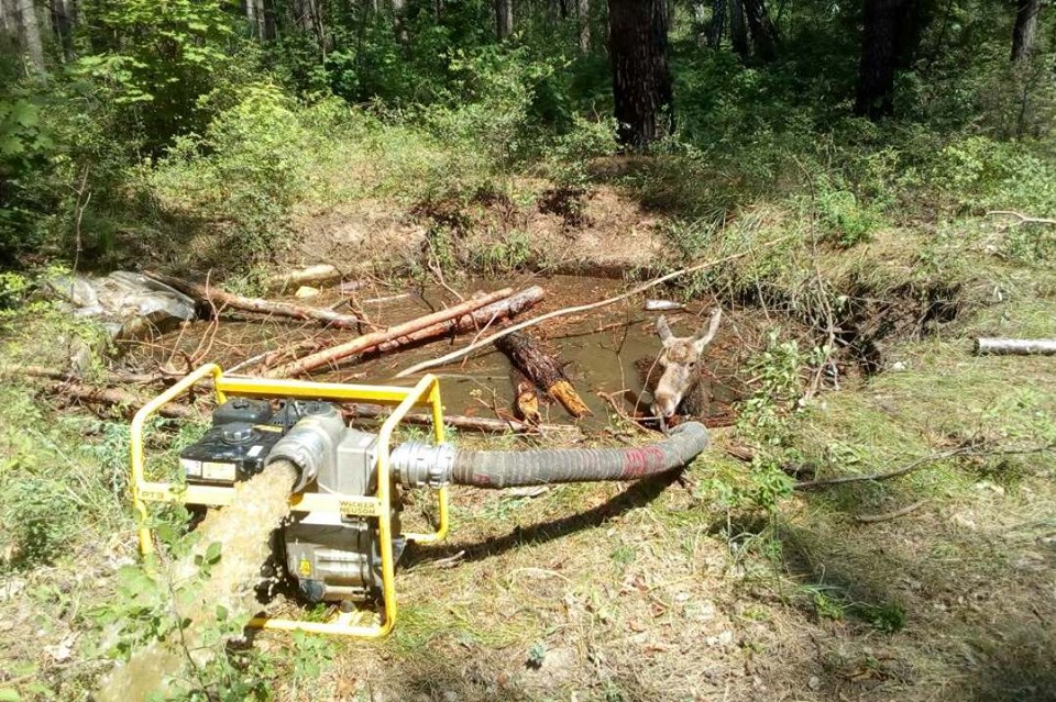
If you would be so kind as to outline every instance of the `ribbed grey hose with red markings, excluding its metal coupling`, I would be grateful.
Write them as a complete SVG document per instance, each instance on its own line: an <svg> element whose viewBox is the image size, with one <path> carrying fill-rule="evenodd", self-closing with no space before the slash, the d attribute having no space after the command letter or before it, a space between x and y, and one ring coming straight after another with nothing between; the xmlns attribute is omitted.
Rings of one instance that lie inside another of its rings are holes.
<svg viewBox="0 0 1056 702"><path fill-rule="evenodd" d="M640 480L689 464L707 448L707 428L686 422L663 441L629 448L543 450L458 450L450 480L477 488L513 488L554 482Z"/></svg>

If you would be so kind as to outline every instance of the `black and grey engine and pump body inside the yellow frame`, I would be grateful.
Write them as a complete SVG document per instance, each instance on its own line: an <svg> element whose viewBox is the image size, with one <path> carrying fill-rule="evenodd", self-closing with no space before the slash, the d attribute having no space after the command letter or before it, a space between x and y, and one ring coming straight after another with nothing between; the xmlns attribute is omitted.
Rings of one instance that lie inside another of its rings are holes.
<svg viewBox="0 0 1056 702"><path fill-rule="evenodd" d="M233 486L277 460L298 471L294 492L369 495L377 490L377 436L345 426L330 402L234 398L219 405L212 426L179 456L191 484ZM396 489L396 486L393 486ZM393 554L399 534L399 500L392 500ZM348 513L294 512L278 527L274 559L308 602L362 602L382 587L381 549L373 520Z"/></svg>

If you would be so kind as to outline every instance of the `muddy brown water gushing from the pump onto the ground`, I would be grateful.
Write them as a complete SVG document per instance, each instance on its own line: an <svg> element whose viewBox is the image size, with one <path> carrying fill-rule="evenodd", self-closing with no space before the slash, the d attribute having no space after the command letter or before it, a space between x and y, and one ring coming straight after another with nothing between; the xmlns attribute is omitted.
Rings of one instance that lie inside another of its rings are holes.
<svg viewBox="0 0 1056 702"><path fill-rule="evenodd" d="M196 557L205 556L210 544L220 544L220 559L208 570L193 601L185 604L174 599L173 613L188 624L119 664L103 681L98 702L130 702L144 700L153 692L165 694L170 689L167 678L185 664L191 668L207 664L215 654L215 647L205 645L205 634L219 625L218 611L224 619L253 612L254 587L270 554L270 536L289 515L288 498L296 480L296 468L277 461L235 486L231 504L206 516L191 553L169 564L164 575L175 590L199 576L201 566Z"/></svg>

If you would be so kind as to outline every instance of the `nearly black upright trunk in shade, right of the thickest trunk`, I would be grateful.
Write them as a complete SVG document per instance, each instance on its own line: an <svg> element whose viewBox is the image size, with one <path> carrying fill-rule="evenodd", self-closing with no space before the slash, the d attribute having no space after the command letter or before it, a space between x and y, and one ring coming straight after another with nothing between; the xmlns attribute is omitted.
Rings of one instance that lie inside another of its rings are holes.
<svg viewBox="0 0 1056 702"><path fill-rule="evenodd" d="M903 37L912 5L913 0L866 0L856 114L875 120L894 109L894 71L906 62Z"/></svg>

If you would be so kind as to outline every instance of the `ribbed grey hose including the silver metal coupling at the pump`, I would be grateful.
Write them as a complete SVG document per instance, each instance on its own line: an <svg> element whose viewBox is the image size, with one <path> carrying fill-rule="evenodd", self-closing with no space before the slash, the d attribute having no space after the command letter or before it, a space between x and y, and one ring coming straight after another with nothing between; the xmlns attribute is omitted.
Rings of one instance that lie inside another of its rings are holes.
<svg viewBox="0 0 1056 702"><path fill-rule="evenodd" d="M543 450L454 450L448 446L403 444L392 461L409 487L453 482L477 488L514 488L559 482L640 480L685 466L707 448L707 428L680 424L662 441L627 448Z"/></svg>

